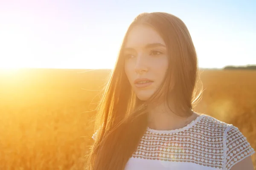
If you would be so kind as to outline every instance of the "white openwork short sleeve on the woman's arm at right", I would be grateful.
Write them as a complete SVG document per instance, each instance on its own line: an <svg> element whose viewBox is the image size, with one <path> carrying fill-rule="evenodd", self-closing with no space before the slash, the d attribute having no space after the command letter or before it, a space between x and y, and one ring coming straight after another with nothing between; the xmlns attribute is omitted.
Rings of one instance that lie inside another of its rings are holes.
<svg viewBox="0 0 256 170"><path fill-rule="evenodd" d="M226 160L225 168L230 170L233 165L255 153L246 137L233 125L225 130Z"/></svg>

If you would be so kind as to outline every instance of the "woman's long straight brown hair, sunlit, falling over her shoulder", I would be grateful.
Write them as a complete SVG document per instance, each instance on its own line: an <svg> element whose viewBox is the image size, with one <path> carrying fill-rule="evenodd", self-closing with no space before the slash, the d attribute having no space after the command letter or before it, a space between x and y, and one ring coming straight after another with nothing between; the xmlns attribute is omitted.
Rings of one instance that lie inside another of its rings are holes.
<svg viewBox="0 0 256 170"><path fill-rule="evenodd" d="M161 87L147 101L141 101L132 91L124 71L123 48L131 29L138 24L154 28L163 38L169 55L169 68ZM201 83L198 61L192 38L186 25L178 17L163 13L139 14L125 34L116 65L105 86L97 109L96 140L91 147L87 169L123 170L145 133L147 105L156 99L160 89L166 101L175 98L175 111L179 116L190 116L192 107L200 100ZM173 81L174 80L174 81ZM174 82L174 83L173 83ZM197 85L200 85L197 87ZM198 93L198 90L199 93ZM167 102L168 103L168 102ZM184 114L181 114L184 113Z"/></svg>

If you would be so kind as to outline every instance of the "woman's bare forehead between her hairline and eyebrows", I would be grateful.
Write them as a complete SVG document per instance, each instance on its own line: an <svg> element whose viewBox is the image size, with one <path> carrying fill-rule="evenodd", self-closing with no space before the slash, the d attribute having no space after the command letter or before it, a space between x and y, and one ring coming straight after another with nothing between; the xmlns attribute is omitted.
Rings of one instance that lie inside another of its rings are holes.
<svg viewBox="0 0 256 170"><path fill-rule="evenodd" d="M125 48L143 48L147 44L166 45L163 38L154 28L145 25L134 26L127 35Z"/></svg>

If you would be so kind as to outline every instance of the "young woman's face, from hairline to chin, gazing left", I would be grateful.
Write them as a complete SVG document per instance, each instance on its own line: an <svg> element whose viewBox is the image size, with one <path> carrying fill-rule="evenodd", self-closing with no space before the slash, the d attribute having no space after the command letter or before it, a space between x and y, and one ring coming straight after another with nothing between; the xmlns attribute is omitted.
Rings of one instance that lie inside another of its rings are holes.
<svg viewBox="0 0 256 170"><path fill-rule="evenodd" d="M125 74L140 100L160 87L168 68L166 44L150 26L134 26L124 46Z"/></svg>

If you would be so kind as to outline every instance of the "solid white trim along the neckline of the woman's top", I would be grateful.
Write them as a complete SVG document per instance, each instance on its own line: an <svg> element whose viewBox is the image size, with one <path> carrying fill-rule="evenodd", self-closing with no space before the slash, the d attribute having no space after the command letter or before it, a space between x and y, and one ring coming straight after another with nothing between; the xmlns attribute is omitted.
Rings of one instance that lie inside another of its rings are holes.
<svg viewBox="0 0 256 170"><path fill-rule="evenodd" d="M154 132L154 133L175 133L175 132L181 132L184 130L187 130L191 127L193 127L196 123L198 123L205 115L201 114L200 116L198 116L197 118L195 118L194 120L192 120L188 125L178 128L178 129L172 129L172 130L156 130L156 129L151 129L147 126L147 130L149 132Z"/></svg>

